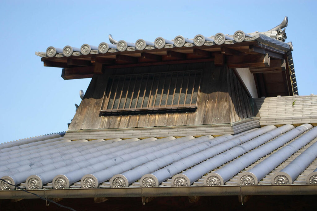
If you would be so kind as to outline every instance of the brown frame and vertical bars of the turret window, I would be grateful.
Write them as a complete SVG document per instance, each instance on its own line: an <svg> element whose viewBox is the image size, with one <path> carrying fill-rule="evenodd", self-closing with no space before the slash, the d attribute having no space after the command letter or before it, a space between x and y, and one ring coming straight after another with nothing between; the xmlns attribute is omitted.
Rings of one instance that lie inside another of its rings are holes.
<svg viewBox="0 0 317 211"><path fill-rule="evenodd" d="M177 74L176 78L175 77L173 78L174 74ZM188 74L188 76L185 76L186 74ZM195 75L192 75L192 74L195 74ZM162 103L164 90L165 90L165 82L166 82L166 78L168 75L171 76L171 79L169 81L169 84L167 84L168 91L166 94L166 99L164 99L165 105L164 104L162 105L161 103ZM111 75L107 79L108 82L107 82L107 86L105 89L100 113L101 113L101 115L112 115L112 114L122 114L122 113L123 114L124 113L130 114L130 113L151 113L151 112L196 110L197 106L198 106L198 101L199 101L202 75L203 75L202 69L182 70L182 71L165 71L165 72L143 73L143 74ZM116 77L119 77L117 82L115 82ZM129 77L129 78L127 79L127 77ZM135 81L132 80L133 77L135 77ZM139 88L136 88L135 86L138 82L139 77L141 77L141 81L139 84ZM152 77L152 79L150 79L150 77ZM159 77L159 79L157 82L155 82L155 80L157 80L157 77ZM165 78L164 78L163 86L161 86L161 88L159 88L159 84L161 82L161 77L165 77ZM184 103L180 104L182 88L183 88L183 83L185 81L185 77L188 77L188 80L187 80L187 84L184 84L186 86L186 92L184 94ZM123 84L122 84L121 88L119 88L119 86L120 86L119 84L120 84L120 82L122 82L121 78L124 78L124 79L123 79ZM146 78L146 80L144 80L144 78ZM181 85L178 89L177 85L178 85L178 80L180 78L182 78ZM173 79L176 82L175 82L174 88L172 89L171 86L172 86ZM149 94L146 95L146 92L148 91L148 83L151 82L151 80L152 80L151 88L149 89ZM193 80L192 86L189 87L191 80ZM109 82L110 82L110 84L109 84ZM123 93L124 89L125 89L124 86L125 86L126 82L129 82L129 84L128 84L128 87L126 89L126 93ZM198 82L198 85L196 84L197 82ZM132 93L129 93L131 83L134 83L134 84L133 84ZM142 83L145 83L144 89L141 89ZM156 89L153 87L155 85L156 85ZM197 85L197 87L195 87L195 85ZM115 88L115 93L112 97L113 86L116 86L116 88ZM191 94L190 94L190 96L191 96L190 103L186 104L186 98L189 95L188 91L190 89L192 90ZM137 94L135 104L133 104L132 102L134 100L133 97L134 97L135 91L138 91L138 94ZM155 94L153 95L152 92L154 92L154 91L155 91ZM170 91L173 91L173 95L170 95ZM196 102L193 103L192 100L193 100L194 94L196 93L195 91L197 91L197 97L196 97ZM142 92L143 92L143 96L141 96L142 102L140 104L140 108L137 108L137 105L139 102L139 97L140 97L140 94ZM117 108L114 108L114 105L116 103L115 101L117 100L116 97L118 94L120 95L119 98L117 98L117 99L119 99L119 101L118 101L118 104L116 106ZM125 97L124 97L123 109L119 109L121 101L123 99L122 96L124 94L125 94ZM178 94L177 104L174 103L174 100L176 99L175 94ZM128 95L131 95L131 98L129 98L130 102L129 102L128 108L125 108L126 101L128 99ZM147 102L144 102L146 96L148 97ZM158 105L156 105L158 96L160 97L160 100L159 100ZM172 102L171 102L171 105L168 105L168 100L169 100L170 96L172 98ZM111 109L108 108L109 103L112 103ZM146 103L146 106L144 106L144 103ZM133 105L133 107L132 107L132 105Z"/></svg>

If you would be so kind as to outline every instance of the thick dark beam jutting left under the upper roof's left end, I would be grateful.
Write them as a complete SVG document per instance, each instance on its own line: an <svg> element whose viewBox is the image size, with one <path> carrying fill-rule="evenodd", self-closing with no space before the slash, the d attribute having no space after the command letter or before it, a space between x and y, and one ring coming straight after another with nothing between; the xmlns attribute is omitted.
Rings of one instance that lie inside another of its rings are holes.
<svg viewBox="0 0 317 211"><path fill-rule="evenodd" d="M94 66L64 68L61 77L64 80L91 78L94 75Z"/></svg>

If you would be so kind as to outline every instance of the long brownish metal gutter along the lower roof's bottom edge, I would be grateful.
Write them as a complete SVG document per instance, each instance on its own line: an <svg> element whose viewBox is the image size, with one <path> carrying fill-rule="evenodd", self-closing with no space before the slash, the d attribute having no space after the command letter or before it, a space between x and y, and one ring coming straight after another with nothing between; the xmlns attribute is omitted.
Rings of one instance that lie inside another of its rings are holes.
<svg viewBox="0 0 317 211"><path fill-rule="evenodd" d="M28 190L46 199L142 196L317 195L316 185L197 186ZM0 191L0 199L34 199L23 190Z"/></svg>

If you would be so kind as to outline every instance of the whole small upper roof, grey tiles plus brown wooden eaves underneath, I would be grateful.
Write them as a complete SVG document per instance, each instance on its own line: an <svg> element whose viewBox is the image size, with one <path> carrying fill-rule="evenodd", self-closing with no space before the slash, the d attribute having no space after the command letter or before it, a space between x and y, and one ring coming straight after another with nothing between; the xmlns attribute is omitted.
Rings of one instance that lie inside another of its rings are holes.
<svg viewBox="0 0 317 211"><path fill-rule="evenodd" d="M258 88L261 96L270 96L265 87L272 89L275 84L283 89L277 95L292 96L298 94L298 89L291 53L293 45L284 42L287 36L282 29L287 25L285 17L281 24L264 32L238 30L233 35L198 34L193 38L179 35L173 40L157 37L154 41L127 42L109 35L109 43L101 42L98 46L85 43L64 48L50 46L46 52L36 52L36 55L42 57L44 66L64 68L62 78L65 80L90 78L103 74L105 69L197 62L214 62L216 66L222 66L227 63L231 69L250 68L257 80L264 80L264 88ZM260 76L262 73L265 76ZM279 82L272 82L271 78L279 79Z"/></svg>

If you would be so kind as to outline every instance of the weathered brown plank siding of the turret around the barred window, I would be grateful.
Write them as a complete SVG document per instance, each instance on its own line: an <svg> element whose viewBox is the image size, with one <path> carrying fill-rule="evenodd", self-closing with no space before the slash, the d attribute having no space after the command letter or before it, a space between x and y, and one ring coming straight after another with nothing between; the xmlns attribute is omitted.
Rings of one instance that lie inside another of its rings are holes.
<svg viewBox="0 0 317 211"><path fill-rule="evenodd" d="M194 69L203 70L196 111L100 115L109 75ZM223 124L236 122L251 115L245 90L233 71L226 66L215 67L209 62L122 68L106 70L103 75L94 75L69 130Z"/></svg>

